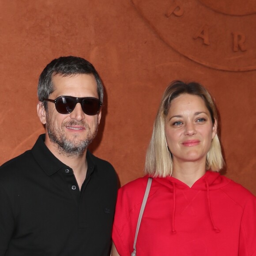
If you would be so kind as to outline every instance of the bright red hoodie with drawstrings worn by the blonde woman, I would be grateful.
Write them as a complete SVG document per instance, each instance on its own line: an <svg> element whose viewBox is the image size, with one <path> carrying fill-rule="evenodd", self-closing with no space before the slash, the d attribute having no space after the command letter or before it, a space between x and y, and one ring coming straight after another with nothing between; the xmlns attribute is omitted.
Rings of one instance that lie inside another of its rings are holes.
<svg viewBox="0 0 256 256"><path fill-rule="evenodd" d="M130 256L148 177L118 192L113 241ZM207 171L191 188L153 178L141 221L136 256L256 256L256 197Z"/></svg>

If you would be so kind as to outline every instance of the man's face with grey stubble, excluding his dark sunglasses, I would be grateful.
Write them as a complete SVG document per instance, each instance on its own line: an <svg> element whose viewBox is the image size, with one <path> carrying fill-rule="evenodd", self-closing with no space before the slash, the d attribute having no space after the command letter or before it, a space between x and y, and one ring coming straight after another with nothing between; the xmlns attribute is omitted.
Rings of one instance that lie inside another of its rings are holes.
<svg viewBox="0 0 256 256"><path fill-rule="evenodd" d="M98 98L97 82L93 75L79 74L68 77L55 75L52 81L54 91L49 95L50 99L54 100L59 96ZM47 112L42 104L38 107L39 118L46 128L46 146L58 154L81 157L97 134L101 111L89 116L83 112L81 104L77 103L71 113L60 114L54 103L47 102L47 104Z"/></svg>

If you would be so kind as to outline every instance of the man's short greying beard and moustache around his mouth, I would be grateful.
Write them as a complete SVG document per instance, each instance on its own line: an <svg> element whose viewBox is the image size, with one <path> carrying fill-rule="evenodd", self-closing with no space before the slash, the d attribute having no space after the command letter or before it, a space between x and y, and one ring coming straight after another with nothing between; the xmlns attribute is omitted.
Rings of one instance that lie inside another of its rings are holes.
<svg viewBox="0 0 256 256"><path fill-rule="evenodd" d="M74 135L72 139L68 139L64 132L67 126L80 125L87 130L87 137L84 139L79 139L79 135ZM65 156L71 158L80 158L83 156L84 151L90 145L92 140L95 138L98 131L98 123L95 126L94 131L91 131L90 126L84 121L69 121L61 124L60 128L54 125L49 117L46 122L46 129L49 135L49 139L53 142L59 154L64 154Z"/></svg>

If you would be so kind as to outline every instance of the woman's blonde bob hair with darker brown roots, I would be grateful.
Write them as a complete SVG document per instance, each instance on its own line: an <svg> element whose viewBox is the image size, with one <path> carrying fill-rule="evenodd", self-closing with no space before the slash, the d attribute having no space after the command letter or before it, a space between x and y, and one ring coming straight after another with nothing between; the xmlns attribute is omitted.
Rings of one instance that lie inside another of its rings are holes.
<svg viewBox="0 0 256 256"><path fill-rule="evenodd" d="M197 95L203 99L211 114L212 124L217 122L217 110L209 92L199 83L173 81L163 94L157 116L154 121L153 133L147 149L145 173L154 177L170 176L173 172L172 155L166 143L165 124L171 102L181 94ZM206 157L206 169L219 171L224 164L218 135L212 139L211 148Z"/></svg>

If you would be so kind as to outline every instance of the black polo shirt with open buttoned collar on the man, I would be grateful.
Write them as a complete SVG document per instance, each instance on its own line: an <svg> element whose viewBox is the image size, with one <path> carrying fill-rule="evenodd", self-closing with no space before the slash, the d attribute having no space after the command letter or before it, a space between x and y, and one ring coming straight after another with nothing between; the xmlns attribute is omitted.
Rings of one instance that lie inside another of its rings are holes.
<svg viewBox="0 0 256 256"><path fill-rule="evenodd" d="M73 170L45 146L0 167L0 256L109 255L117 176L87 151L79 191Z"/></svg>

